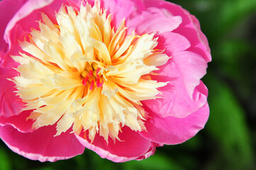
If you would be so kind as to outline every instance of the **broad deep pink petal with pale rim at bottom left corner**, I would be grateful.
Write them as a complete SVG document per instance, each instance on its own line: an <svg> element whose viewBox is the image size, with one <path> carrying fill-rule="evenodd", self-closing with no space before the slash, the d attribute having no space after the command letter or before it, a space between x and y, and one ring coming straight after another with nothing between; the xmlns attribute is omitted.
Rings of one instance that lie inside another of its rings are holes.
<svg viewBox="0 0 256 170"><path fill-rule="evenodd" d="M0 137L6 145L23 157L40 162L55 162L82 154L84 147L71 130L57 137L55 126L43 127L34 132L19 132L11 125L0 125Z"/></svg>

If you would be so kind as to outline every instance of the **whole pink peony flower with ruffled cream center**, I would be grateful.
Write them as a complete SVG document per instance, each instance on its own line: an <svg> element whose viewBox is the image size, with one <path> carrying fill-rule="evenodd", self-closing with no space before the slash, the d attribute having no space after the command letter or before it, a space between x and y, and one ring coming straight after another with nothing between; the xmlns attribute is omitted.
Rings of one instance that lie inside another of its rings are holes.
<svg viewBox="0 0 256 170"><path fill-rule="evenodd" d="M162 0L0 2L0 137L55 162L113 162L189 140L208 120L199 21Z"/></svg>

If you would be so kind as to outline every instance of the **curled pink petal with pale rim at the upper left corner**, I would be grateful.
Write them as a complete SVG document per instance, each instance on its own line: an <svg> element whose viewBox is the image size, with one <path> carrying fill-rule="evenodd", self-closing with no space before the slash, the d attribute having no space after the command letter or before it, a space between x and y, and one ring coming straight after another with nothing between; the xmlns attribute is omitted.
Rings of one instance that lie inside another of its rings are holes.
<svg viewBox="0 0 256 170"><path fill-rule="evenodd" d="M31 28L38 28L41 14L43 12L55 21L55 13L59 11L60 6L65 1L54 0L30 0L23 4L17 13L11 18L4 33L4 40L9 43L9 52L16 55L21 48L18 40L24 40L24 37L30 33Z"/></svg>

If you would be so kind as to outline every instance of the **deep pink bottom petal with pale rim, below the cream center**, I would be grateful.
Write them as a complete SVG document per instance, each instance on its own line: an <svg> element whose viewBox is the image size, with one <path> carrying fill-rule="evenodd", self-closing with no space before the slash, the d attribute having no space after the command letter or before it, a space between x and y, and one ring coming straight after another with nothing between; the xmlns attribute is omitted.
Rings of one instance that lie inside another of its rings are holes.
<svg viewBox="0 0 256 170"><path fill-rule="evenodd" d="M108 139L108 144L103 137L96 135L94 142L90 143L84 140L82 134L77 135L77 139L87 147L93 150L101 158L109 159L113 162L127 162L134 159L142 159L143 157L150 157L155 153L155 146L152 142L141 137L138 132L124 127L118 137L121 141Z"/></svg>

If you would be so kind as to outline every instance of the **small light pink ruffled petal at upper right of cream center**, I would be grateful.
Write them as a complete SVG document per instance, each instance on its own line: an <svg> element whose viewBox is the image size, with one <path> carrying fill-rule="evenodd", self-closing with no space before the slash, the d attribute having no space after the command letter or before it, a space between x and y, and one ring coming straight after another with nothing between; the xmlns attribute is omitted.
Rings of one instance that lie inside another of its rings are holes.
<svg viewBox="0 0 256 170"><path fill-rule="evenodd" d="M129 16L127 26L131 31L135 30L138 35L144 33L165 33L176 29L182 18L180 16L172 16L170 11L159 8L147 8L147 11L138 11L136 15Z"/></svg>

